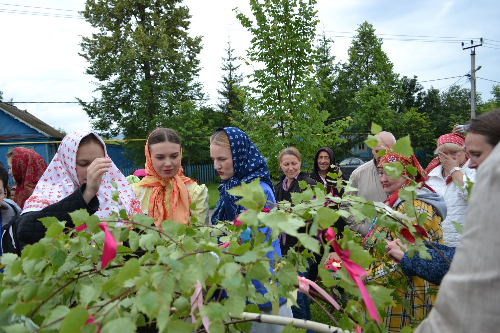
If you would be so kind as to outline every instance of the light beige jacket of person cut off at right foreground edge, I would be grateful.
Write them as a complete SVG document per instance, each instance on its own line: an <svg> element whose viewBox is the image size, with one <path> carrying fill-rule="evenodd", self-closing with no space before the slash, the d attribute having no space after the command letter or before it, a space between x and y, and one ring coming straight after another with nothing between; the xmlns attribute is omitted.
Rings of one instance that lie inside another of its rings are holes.
<svg viewBox="0 0 500 333"><path fill-rule="evenodd" d="M477 169L461 243L429 317L415 333L500 329L500 144Z"/></svg>

